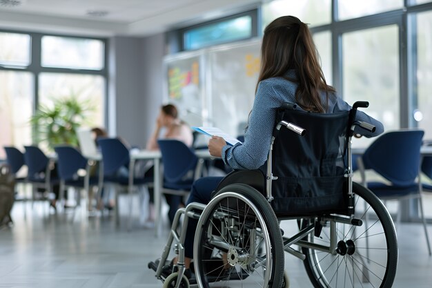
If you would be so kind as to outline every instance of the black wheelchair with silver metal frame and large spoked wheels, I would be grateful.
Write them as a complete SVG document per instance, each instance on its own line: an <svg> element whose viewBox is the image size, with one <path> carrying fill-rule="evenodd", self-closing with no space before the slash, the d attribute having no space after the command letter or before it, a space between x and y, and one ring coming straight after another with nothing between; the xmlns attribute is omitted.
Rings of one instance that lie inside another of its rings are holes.
<svg viewBox="0 0 432 288"><path fill-rule="evenodd" d="M266 171L233 171L206 205L179 209L180 233L171 229L159 263L149 268L163 287L288 287L284 252L304 262L315 288L391 287L397 269L397 238L389 212L364 186L352 181L351 111L308 113L295 104L277 111ZM188 219L198 220L194 239L195 277L184 275ZM296 220L286 236L282 220ZM296 230L297 230L296 227ZM175 244L173 245L173 242ZM162 267L174 249L173 273Z"/></svg>

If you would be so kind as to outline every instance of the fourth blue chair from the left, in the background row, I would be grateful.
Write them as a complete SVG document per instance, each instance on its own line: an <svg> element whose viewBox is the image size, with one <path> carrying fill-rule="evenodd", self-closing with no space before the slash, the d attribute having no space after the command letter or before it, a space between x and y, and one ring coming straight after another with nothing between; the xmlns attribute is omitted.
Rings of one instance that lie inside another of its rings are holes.
<svg viewBox="0 0 432 288"><path fill-rule="evenodd" d="M129 171L129 149L118 138L99 138L97 144L102 153L103 182L128 189L130 196L128 229L130 229L132 225L132 191L138 186L147 185L153 178L145 177L144 173L137 176L134 171ZM118 189L115 189L115 202L116 224L119 225Z"/></svg>

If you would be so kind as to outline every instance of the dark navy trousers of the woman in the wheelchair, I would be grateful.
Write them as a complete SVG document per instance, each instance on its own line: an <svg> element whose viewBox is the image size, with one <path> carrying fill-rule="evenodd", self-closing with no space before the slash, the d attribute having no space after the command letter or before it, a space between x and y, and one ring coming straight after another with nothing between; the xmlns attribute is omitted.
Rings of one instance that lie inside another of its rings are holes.
<svg viewBox="0 0 432 288"><path fill-rule="evenodd" d="M192 202L208 204L211 199L211 193L216 189L222 179L224 179L224 177L202 177L193 182L186 205ZM195 237L197 224L198 220L188 219L186 239L184 240L184 255L188 258L193 258L193 239Z"/></svg>

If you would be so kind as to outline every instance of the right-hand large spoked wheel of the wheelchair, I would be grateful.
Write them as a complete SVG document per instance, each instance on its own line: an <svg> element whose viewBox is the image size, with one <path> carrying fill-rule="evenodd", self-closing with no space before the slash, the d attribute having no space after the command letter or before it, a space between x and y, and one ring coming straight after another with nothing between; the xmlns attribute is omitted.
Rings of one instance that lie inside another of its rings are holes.
<svg viewBox="0 0 432 288"><path fill-rule="evenodd" d="M397 238L389 212L364 186L353 182L353 193L355 218L362 220L362 224L324 222L320 237L311 233L308 241L328 247L333 232L337 239L335 251L302 249L306 255L304 265L315 288L386 288L393 285Z"/></svg>

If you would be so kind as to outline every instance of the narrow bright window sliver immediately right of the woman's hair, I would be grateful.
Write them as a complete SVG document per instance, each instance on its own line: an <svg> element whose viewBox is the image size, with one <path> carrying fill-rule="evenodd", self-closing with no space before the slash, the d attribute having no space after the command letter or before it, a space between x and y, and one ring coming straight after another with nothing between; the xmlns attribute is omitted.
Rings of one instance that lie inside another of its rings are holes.
<svg viewBox="0 0 432 288"><path fill-rule="evenodd" d="M313 41L317 47L318 54L320 55L321 68L324 77L326 77L326 82L328 85L332 85L331 32L324 31L315 33L313 35Z"/></svg>

